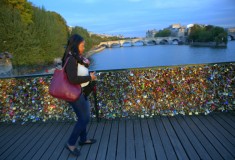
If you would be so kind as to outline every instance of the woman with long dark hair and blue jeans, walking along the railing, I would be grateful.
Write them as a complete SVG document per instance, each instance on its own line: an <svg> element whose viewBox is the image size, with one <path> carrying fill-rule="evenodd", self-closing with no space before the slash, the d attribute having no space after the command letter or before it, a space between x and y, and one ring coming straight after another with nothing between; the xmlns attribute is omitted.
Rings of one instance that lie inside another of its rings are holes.
<svg viewBox="0 0 235 160"><path fill-rule="evenodd" d="M80 35L75 34L69 38L67 48L62 59L62 66L68 59L68 63L65 66L65 72L67 73L68 80L72 84L82 84L96 80L94 72L87 76L78 76L78 64L82 64L86 67L90 64L86 58L82 57L84 49L85 41ZM80 155L80 150L76 147L76 142L79 137L80 145L93 144L96 142L95 139L87 139L86 127L90 119L90 106L84 93L87 93L87 91L83 91L76 101L68 102L73 107L73 110L77 115L77 122L65 147L75 156Z"/></svg>

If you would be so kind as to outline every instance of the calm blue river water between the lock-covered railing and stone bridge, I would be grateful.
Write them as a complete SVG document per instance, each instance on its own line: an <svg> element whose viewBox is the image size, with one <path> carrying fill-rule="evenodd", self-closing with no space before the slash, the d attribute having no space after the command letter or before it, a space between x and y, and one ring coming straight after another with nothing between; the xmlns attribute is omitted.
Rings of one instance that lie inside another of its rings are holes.
<svg viewBox="0 0 235 160"><path fill-rule="evenodd" d="M226 48L189 45L114 47L92 55L91 59L90 70L235 62L235 41L229 41Z"/></svg>

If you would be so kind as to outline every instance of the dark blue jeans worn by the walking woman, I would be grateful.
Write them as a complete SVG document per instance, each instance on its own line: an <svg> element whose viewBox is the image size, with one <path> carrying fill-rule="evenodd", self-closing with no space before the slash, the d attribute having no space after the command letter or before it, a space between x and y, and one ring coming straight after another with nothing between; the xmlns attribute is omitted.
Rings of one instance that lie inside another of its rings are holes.
<svg viewBox="0 0 235 160"><path fill-rule="evenodd" d="M90 120L90 105L83 93L79 99L75 102L69 102L69 104L73 107L73 110L77 115L77 122L69 137L68 144L70 146L75 146L78 137L80 137L81 142L85 142L87 140L86 127Z"/></svg>

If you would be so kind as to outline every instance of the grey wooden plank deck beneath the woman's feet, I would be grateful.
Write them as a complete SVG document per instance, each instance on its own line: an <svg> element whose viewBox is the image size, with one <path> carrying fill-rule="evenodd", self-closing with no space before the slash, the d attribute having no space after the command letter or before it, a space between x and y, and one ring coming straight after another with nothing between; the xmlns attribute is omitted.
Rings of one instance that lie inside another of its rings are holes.
<svg viewBox="0 0 235 160"><path fill-rule="evenodd" d="M64 149L73 123L0 123L0 160L235 159L235 114L92 121L74 157Z"/></svg>

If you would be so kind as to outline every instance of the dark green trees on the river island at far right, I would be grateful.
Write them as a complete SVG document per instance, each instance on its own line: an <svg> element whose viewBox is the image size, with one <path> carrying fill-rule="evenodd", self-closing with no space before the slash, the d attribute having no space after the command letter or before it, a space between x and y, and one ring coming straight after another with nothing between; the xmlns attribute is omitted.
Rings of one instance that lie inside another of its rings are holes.
<svg viewBox="0 0 235 160"><path fill-rule="evenodd" d="M217 26L194 25L191 28L188 39L191 42L227 43L227 32L223 28Z"/></svg>

